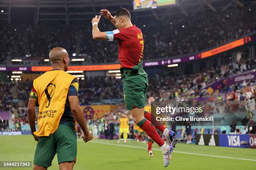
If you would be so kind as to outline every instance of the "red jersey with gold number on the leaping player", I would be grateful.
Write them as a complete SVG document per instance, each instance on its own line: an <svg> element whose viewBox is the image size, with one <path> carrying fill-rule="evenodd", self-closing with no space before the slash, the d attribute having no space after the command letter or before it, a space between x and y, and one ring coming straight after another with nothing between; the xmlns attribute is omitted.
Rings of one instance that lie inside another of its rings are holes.
<svg viewBox="0 0 256 170"><path fill-rule="evenodd" d="M133 68L143 57L144 41L141 29L136 25L125 29L113 30L118 41L118 60L122 68Z"/></svg>

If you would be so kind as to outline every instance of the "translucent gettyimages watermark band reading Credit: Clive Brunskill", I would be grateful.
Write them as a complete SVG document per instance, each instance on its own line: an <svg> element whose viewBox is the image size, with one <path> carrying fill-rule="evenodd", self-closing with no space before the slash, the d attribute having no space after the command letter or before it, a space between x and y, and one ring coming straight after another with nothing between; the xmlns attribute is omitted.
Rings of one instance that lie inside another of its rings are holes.
<svg viewBox="0 0 256 170"><path fill-rule="evenodd" d="M158 125L256 125L254 101L155 101L151 122Z"/></svg>

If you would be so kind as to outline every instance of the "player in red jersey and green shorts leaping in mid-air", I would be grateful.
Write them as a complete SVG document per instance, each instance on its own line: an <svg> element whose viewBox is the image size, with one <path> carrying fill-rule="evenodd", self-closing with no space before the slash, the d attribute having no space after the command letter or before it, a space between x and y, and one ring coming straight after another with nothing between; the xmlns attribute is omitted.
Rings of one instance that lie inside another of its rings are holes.
<svg viewBox="0 0 256 170"><path fill-rule="evenodd" d="M117 30L100 32L97 25L101 15L110 20ZM159 145L164 156L164 167L168 166L176 143L175 133L163 125L158 126L167 139L164 142L156 131L157 127L151 125L151 114L145 114L146 118L144 117L148 75L142 67L144 41L141 30L131 23L131 14L127 9L123 8L116 11L114 16L108 10L101 10L100 16L96 15L92 19L92 36L94 40L118 41L120 71L125 77L123 79L123 96L126 109L130 110L133 121Z"/></svg>

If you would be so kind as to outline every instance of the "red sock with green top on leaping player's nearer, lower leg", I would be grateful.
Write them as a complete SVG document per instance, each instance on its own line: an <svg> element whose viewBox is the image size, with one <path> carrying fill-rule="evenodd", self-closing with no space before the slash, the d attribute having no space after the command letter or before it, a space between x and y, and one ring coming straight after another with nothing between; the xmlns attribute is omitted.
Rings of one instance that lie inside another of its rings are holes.
<svg viewBox="0 0 256 170"><path fill-rule="evenodd" d="M146 118L142 119L137 124L144 132L148 134L148 136L154 140L157 145L162 146L164 145L164 140L159 136L154 126L151 126L151 122L149 122Z"/></svg>

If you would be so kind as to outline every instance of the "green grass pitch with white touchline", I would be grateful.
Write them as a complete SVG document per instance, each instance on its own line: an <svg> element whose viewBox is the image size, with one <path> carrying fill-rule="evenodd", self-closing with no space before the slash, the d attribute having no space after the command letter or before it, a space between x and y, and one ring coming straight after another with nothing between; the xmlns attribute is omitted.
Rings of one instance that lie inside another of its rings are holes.
<svg viewBox="0 0 256 170"><path fill-rule="evenodd" d="M74 170L256 170L256 150L187 145L177 143L172 161L163 167L163 157L156 143L153 158L147 145L128 141L96 140L84 143L78 139L77 163ZM32 135L0 136L0 161L32 161L36 141ZM0 168L10 170L11 168ZM26 168L13 168L27 170ZM58 170L56 156L49 170Z"/></svg>

